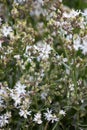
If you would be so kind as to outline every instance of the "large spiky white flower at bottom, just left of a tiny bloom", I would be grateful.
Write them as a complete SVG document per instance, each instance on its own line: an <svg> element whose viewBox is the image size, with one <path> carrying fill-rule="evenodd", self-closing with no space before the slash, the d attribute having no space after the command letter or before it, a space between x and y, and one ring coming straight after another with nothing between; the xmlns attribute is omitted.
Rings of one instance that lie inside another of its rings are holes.
<svg viewBox="0 0 87 130"><path fill-rule="evenodd" d="M56 117L56 115L52 114L52 110L49 110L48 108L47 108L47 112L44 113L44 116L47 121L51 121L52 123L54 123L55 121L58 121L58 118Z"/></svg>

